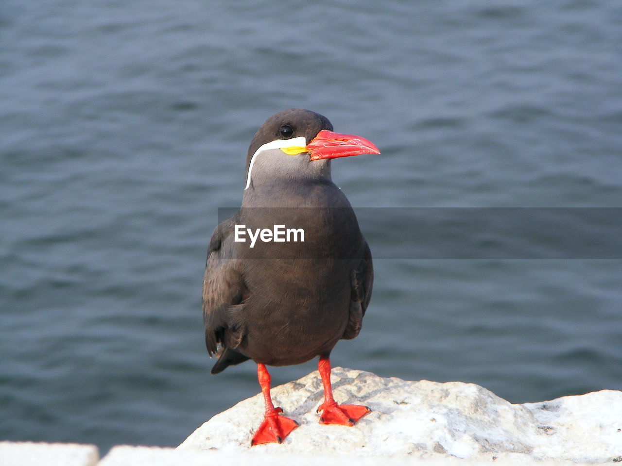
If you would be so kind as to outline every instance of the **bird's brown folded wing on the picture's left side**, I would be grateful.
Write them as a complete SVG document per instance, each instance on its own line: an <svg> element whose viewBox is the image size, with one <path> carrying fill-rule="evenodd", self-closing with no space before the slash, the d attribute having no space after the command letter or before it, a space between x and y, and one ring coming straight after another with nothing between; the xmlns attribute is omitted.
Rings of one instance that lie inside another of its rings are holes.
<svg viewBox="0 0 622 466"><path fill-rule="evenodd" d="M234 223L235 216L221 222L208 246L203 278L203 322L210 357L218 351L219 343L234 348L244 336L244 329L233 319L244 306L248 293L239 260L233 258Z"/></svg>

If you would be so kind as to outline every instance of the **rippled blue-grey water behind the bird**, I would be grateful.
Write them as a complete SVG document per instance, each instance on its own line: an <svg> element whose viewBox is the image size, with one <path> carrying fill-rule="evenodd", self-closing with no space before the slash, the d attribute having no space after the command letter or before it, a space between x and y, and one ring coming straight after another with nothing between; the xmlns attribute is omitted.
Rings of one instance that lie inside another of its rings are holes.
<svg viewBox="0 0 622 466"><path fill-rule="evenodd" d="M281 109L381 148L333 163L360 208L620 207L621 31L588 0L5 0L0 438L175 445L257 393L252 363L208 375L200 288ZM513 402L620 389L612 257L376 260L333 362Z"/></svg>

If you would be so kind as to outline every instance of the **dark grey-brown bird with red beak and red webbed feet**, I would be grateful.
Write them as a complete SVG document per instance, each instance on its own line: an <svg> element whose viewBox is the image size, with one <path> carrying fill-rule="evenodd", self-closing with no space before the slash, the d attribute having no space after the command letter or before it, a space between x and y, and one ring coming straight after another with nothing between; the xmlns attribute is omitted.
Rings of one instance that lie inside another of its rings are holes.
<svg viewBox="0 0 622 466"><path fill-rule="evenodd" d="M332 181L331 162L364 153L380 151L363 137L333 132L320 114L300 108L274 114L249 145L241 208L211 235L202 296L205 344L210 357L218 357L212 374L246 360L257 364L265 413L251 446L281 444L299 425L272 403L267 365L319 358L320 424L353 426L371 411L338 404L330 381L330 352L338 340L359 334L373 288L371 252ZM258 239L261 227L279 225L302 229L304 240ZM256 231L253 247L241 234L246 229Z"/></svg>

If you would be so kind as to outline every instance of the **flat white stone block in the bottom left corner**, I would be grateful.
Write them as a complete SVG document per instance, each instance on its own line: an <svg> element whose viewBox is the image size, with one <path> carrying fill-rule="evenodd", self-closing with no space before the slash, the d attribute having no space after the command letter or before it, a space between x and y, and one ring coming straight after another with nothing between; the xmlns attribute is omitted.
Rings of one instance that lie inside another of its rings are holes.
<svg viewBox="0 0 622 466"><path fill-rule="evenodd" d="M95 445L0 442L2 466L93 466L99 459Z"/></svg>

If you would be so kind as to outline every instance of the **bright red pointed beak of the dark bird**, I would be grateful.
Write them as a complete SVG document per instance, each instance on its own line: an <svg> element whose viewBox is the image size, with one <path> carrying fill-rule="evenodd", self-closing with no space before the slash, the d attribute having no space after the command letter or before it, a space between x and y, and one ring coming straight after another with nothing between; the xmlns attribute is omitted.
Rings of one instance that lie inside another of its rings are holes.
<svg viewBox="0 0 622 466"><path fill-rule="evenodd" d="M340 134L323 129L307 144L311 160L350 157L361 153L380 153L367 139L352 134Z"/></svg>

